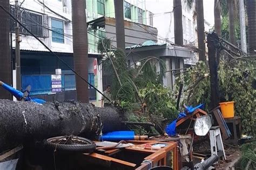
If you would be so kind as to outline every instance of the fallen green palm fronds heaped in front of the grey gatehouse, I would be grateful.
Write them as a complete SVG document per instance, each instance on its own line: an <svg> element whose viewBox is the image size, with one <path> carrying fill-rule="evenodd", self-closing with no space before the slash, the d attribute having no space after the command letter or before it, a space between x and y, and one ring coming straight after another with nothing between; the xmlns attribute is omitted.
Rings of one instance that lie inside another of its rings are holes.
<svg viewBox="0 0 256 170"><path fill-rule="evenodd" d="M105 41L106 44L109 43ZM122 50L107 51L104 46L104 42L100 41L98 50L104 50L102 52L107 54L103 66L112 74L111 93L120 107L142 114L147 121L153 115L159 119L170 120L177 117L173 95L170 89L162 85L166 70L163 59L145 57L137 61L140 62L139 66L136 64L128 66L127 56Z"/></svg>

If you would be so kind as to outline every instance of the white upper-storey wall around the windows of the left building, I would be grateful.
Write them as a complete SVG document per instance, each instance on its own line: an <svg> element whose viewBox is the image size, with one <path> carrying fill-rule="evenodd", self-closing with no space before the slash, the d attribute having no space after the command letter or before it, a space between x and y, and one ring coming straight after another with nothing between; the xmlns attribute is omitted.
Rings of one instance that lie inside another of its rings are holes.
<svg viewBox="0 0 256 170"><path fill-rule="evenodd" d="M59 13L59 15L72 20L71 15L71 1L67 0L65 8L67 12L64 12L63 2L58 0L39 0L44 2L51 10ZM21 3L21 1L19 2ZM10 4L14 5L14 0L10 1ZM49 38L40 38L52 51L56 52L73 52L72 47L72 22L67 22L62 17L56 15L50 10L43 7L41 3L37 0L25 0L21 6L22 8L46 14L49 16L48 19L48 28L51 29L51 18L59 19L64 22L64 44L63 43L54 43L51 40L51 31L49 31ZM38 14L38 13L37 13ZM12 39L15 39L15 35L12 34ZM36 50L36 51L47 51L46 48L38 42L34 37L29 35L22 35L21 50ZM15 41L12 42L12 46L15 47Z"/></svg>

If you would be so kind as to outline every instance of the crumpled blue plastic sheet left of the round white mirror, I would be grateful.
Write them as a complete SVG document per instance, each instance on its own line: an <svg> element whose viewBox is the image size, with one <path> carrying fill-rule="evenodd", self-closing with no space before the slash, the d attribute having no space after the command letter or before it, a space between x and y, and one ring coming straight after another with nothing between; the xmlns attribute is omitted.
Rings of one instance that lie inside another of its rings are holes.
<svg viewBox="0 0 256 170"><path fill-rule="evenodd" d="M176 135L176 123L177 123L177 120L179 120L180 118L184 118L187 116L187 114L191 114L193 113L195 110L197 110L198 108L203 108L204 107L204 104L200 104L196 107L192 107L192 106L185 106L185 112L181 112L179 113L178 115L178 118L173 120L172 123L170 123L169 125L166 126L165 128L165 132L173 137ZM187 113L187 114L186 114Z"/></svg>

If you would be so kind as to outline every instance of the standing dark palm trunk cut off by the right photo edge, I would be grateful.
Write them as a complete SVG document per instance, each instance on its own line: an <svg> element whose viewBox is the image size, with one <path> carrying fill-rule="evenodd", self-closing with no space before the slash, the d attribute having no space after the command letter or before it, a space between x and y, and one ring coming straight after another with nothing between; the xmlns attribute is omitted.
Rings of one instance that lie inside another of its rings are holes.
<svg viewBox="0 0 256 170"><path fill-rule="evenodd" d="M249 52L256 53L256 1L247 0Z"/></svg>

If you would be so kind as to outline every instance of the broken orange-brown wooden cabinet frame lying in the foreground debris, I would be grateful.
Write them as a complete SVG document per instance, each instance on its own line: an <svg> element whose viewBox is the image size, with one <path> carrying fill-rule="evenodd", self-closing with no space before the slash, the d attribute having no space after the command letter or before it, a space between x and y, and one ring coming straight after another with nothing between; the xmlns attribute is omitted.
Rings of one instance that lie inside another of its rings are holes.
<svg viewBox="0 0 256 170"><path fill-rule="evenodd" d="M83 154L88 166L104 169L146 170L157 166L179 169L177 142L127 141L132 146Z"/></svg>

